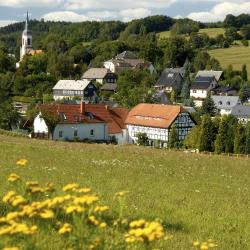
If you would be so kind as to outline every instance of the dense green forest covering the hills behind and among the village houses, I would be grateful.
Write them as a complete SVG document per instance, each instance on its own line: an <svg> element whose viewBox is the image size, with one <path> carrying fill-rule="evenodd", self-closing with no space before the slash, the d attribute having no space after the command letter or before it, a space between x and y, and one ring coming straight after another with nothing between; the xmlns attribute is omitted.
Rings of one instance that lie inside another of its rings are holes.
<svg viewBox="0 0 250 250"><path fill-rule="evenodd" d="M225 35L211 38L198 32L207 27L224 27ZM15 68L15 63L20 57L24 22L0 28L2 114L11 110L11 102L16 97L32 98L34 104L51 100L52 87L59 79L80 79L87 68L102 67L104 60L113 58L124 50L133 51L139 58L152 62L157 73L151 76L148 72L124 72L119 77L118 92L114 98L120 105L129 108L141 102L142 98L150 101L152 86L166 67L181 67L188 59L189 73L203 69L221 69L219 62L211 58L207 50L230 47L236 39L248 43L250 16L228 15L224 22L213 24L168 16L151 16L128 23L31 20L29 28L33 33L33 48L42 49L44 53L25 56L18 69ZM159 39L158 33L168 30L171 31L171 36ZM186 39L186 35L189 39ZM229 67L225 70L225 76L225 84L232 84L242 90L242 93L248 86L242 72L233 71ZM190 83L190 80L186 79L186 82ZM185 88L182 92L186 94L173 93L172 99L183 96L187 99L188 84ZM16 117L14 111L8 114L10 117L5 115L5 119L0 118L0 127L9 128L12 118Z"/></svg>

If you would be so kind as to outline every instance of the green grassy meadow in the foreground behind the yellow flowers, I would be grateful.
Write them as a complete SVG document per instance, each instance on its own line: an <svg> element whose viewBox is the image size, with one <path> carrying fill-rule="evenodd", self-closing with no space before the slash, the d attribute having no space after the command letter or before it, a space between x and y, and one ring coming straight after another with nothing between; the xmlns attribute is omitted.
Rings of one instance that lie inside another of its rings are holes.
<svg viewBox="0 0 250 250"><path fill-rule="evenodd" d="M115 210L114 194L127 190L126 218L161 218L173 234L157 249L194 249L194 240L208 239L217 249L250 249L250 159L3 135L0 155L1 195L10 190L6 177L13 172L57 187L71 182L92 187ZM20 158L29 160L26 168L15 166ZM65 249L50 232L37 237L39 249Z"/></svg>

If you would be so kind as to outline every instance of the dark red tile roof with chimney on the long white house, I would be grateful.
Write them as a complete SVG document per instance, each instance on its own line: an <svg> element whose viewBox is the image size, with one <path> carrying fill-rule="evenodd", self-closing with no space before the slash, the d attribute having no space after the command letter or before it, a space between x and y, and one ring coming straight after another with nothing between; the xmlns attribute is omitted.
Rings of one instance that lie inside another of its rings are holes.
<svg viewBox="0 0 250 250"><path fill-rule="evenodd" d="M76 123L107 123L109 134L121 133L126 128L125 120L128 110L124 108L110 108L103 104L48 104L41 105L41 111L46 110L52 115L65 114L66 119L61 119L60 124ZM93 115L90 119L90 114Z"/></svg>

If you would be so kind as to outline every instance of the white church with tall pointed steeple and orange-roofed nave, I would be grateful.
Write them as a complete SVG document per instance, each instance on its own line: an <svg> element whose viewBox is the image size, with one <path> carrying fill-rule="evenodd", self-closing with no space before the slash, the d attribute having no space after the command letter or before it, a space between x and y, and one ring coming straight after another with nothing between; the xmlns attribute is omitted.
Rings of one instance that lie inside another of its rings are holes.
<svg viewBox="0 0 250 250"><path fill-rule="evenodd" d="M25 21L25 28L22 34L22 46L20 48L20 61L17 63L17 68L20 65L23 57L25 55L37 55L42 54L42 50L34 50L32 47L32 31L29 30L29 13L27 12L27 17Z"/></svg>

